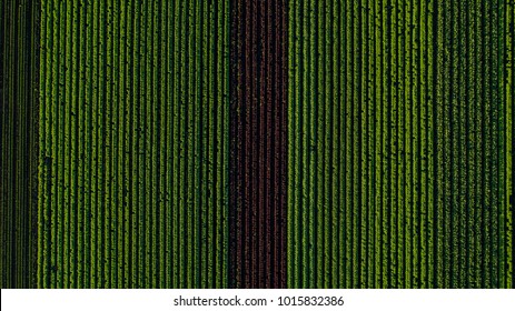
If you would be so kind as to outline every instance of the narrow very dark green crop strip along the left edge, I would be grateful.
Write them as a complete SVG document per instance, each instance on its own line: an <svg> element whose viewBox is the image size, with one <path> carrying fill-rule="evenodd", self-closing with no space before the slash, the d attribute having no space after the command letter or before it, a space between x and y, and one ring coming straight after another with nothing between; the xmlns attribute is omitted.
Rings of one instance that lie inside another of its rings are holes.
<svg viewBox="0 0 515 311"><path fill-rule="evenodd" d="M0 14L0 288L34 288L40 1Z"/></svg>

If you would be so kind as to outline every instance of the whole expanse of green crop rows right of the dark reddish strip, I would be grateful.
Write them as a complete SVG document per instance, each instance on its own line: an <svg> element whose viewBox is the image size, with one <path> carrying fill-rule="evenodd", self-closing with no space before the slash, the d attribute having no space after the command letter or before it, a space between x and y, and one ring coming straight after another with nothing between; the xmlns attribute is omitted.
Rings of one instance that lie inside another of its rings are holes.
<svg viewBox="0 0 515 311"><path fill-rule="evenodd" d="M513 287L513 3L288 6L288 285Z"/></svg>

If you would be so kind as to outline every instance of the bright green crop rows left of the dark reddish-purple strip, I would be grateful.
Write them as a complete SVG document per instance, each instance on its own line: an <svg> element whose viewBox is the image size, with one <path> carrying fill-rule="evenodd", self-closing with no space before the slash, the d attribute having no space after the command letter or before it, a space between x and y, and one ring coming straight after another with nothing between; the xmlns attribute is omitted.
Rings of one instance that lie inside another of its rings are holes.
<svg viewBox="0 0 515 311"><path fill-rule="evenodd" d="M227 285L227 14L41 2L38 287Z"/></svg>

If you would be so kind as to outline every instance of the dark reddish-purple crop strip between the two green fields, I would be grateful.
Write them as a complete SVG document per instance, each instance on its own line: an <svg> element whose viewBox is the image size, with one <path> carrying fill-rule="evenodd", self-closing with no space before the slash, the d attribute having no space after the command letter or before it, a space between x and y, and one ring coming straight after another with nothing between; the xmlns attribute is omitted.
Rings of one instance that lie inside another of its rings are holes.
<svg viewBox="0 0 515 311"><path fill-rule="evenodd" d="M230 285L286 287L286 0L231 7Z"/></svg>

